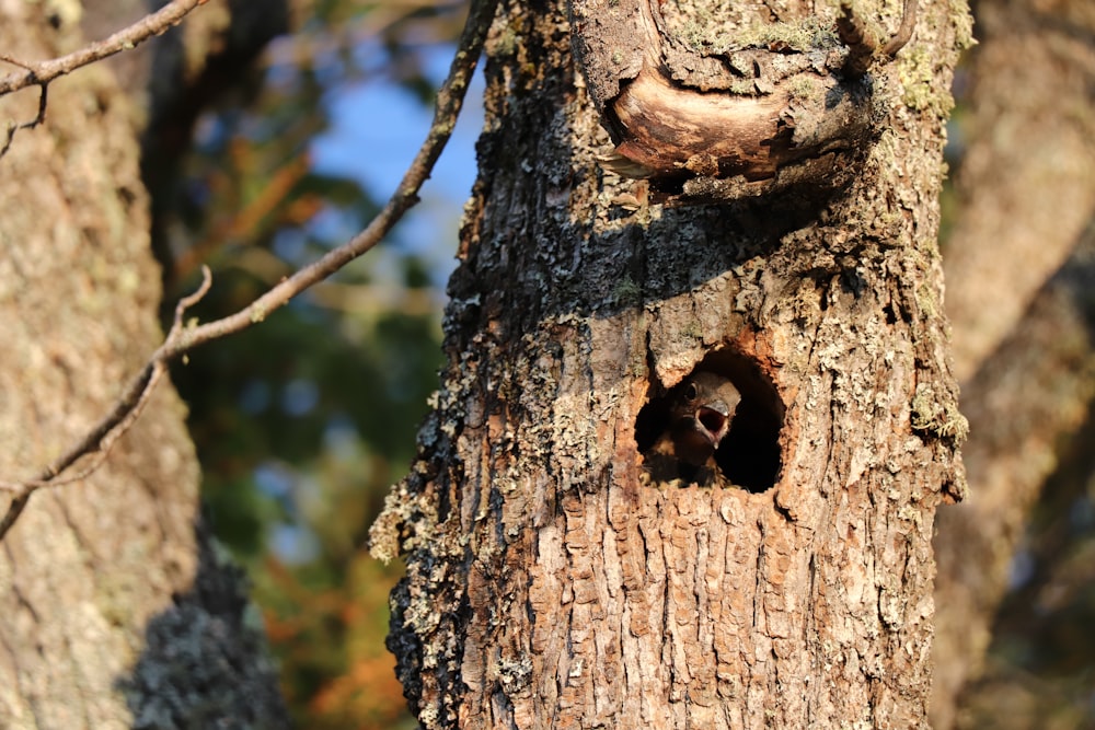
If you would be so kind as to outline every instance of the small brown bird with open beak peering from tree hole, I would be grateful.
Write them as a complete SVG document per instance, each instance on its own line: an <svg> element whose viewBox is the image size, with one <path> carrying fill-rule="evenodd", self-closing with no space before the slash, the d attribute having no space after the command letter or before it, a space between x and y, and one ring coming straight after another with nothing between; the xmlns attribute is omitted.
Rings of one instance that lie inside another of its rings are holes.
<svg viewBox="0 0 1095 730"><path fill-rule="evenodd" d="M645 453L652 478L705 486L724 478L715 451L741 402L738 389L724 375L698 372L673 387L666 399L668 419Z"/></svg>

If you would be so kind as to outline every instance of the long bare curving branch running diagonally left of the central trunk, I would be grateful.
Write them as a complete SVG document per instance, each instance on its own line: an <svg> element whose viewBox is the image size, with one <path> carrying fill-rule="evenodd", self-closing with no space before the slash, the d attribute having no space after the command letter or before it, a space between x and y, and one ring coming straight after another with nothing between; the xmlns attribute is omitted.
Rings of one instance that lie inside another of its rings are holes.
<svg viewBox="0 0 1095 730"><path fill-rule="evenodd" d="M198 0L192 0L192 2L200 4ZM36 478L19 484L2 485L3 489L14 491L15 497L12 499L3 520L0 521L0 541L7 536L8 531L19 519L35 490L60 484L57 477L78 459L93 451L104 452L108 450L114 441L132 425L169 361L198 345L262 322L270 312L283 306L292 297L331 276L377 245L403 215L418 201L418 190L429 177L434 164L452 134L457 117L460 115L468 84L479 62L497 4L498 0L473 0L468 22L458 43L456 57L449 69L449 76L437 93L434 121L426 135L426 140L388 205L372 222L350 241L300 269L235 314L200 326L187 327L183 324L183 315L191 305L205 296L210 286L209 270L203 267L201 287L178 302L175 308L175 320L168 337L148 359L140 372L129 382L111 413L104 416L87 436L46 467ZM99 459L97 463L102 463L102 459ZM65 482L67 483L68 479Z"/></svg>

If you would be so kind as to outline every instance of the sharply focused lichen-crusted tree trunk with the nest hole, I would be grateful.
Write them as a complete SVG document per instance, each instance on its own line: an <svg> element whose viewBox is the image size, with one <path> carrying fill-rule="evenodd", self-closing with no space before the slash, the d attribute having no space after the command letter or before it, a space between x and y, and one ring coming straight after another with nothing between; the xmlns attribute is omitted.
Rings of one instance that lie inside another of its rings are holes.
<svg viewBox="0 0 1095 730"><path fill-rule="evenodd" d="M721 5L661 10L704 37L837 13ZM857 14L886 37L902 8ZM373 528L407 563L389 644L419 721L925 727L932 525L964 490L936 234L965 4L924 3L872 68L866 159L808 209L645 205L598 164L612 146L572 30L561 2L493 27L449 364ZM696 367L742 393L723 452L739 486L645 474L659 424L641 413Z"/></svg>

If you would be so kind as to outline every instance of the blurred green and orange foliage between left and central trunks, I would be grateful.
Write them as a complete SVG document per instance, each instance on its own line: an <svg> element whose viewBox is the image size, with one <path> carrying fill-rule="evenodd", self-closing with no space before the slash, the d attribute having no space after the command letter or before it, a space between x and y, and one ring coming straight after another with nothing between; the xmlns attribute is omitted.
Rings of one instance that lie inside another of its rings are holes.
<svg viewBox="0 0 1095 730"><path fill-rule="evenodd" d="M309 155L332 125L330 100L359 84L397 84L428 115L435 81L423 51L451 44L464 14L462 2L320 0L292 10L293 33L266 49L261 73L241 76L244 88L207 100L178 173L152 186L165 310L208 265L212 290L191 314L207 322L235 312L364 228L388 190L323 173ZM456 223L426 245L454 241ZM422 248L396 231L261 325L172 370L189 407L206 512L250 570L299 727L410 723L383 646L399 568L368 557L365 541L414 455L441 364L435 282L443 273Z"/></svg>

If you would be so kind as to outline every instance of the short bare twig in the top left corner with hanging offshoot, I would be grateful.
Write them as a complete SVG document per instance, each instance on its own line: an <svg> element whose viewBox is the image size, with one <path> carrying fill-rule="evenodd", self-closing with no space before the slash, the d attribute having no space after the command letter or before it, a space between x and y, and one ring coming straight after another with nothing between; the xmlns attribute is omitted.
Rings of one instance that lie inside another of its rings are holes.
<svg viewBox="0 0 1095 730"><path fill-rule="evenodd" d="M177 25L188 12L198 5L204 5L208 0L172 0L166 5L146 15L132 25L123 28L108 38L99 40L73 51L68 56L54 58L48 61L23 61L11 56L0 54L0 61L18 66L23 71L9 73L0 77L0 96L10 94L27 86L38 86L38 115L30 121L20 125L10 125L3 144L0 146L0 158L8 153L15 132L21 129L34 129L46 120L46 92L49 82L57 77L70 73L76 69L94 63L107 56L136 48L153 35L161 35L172 25Z"/></svg>

